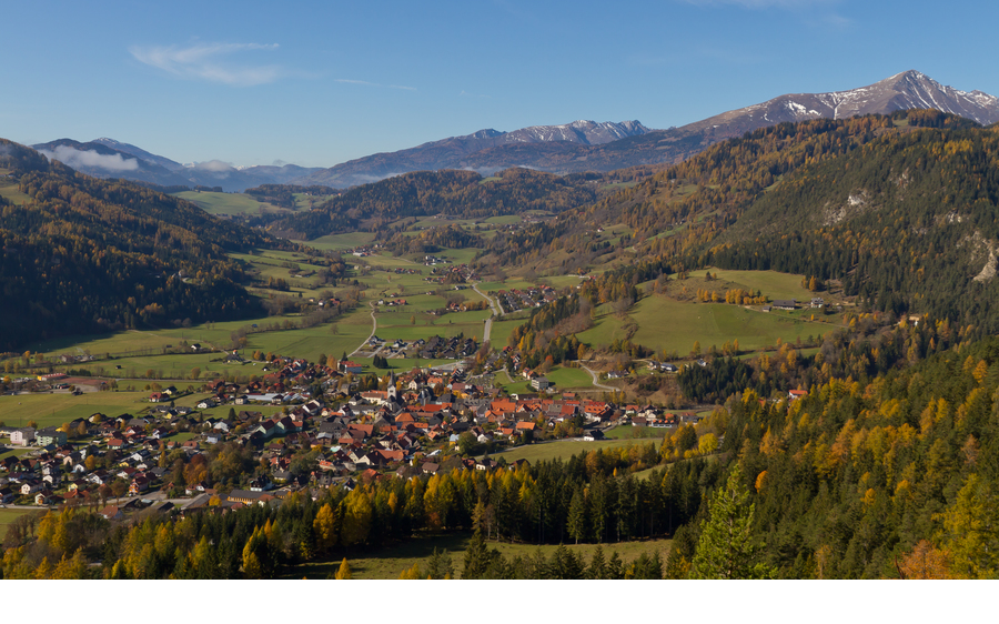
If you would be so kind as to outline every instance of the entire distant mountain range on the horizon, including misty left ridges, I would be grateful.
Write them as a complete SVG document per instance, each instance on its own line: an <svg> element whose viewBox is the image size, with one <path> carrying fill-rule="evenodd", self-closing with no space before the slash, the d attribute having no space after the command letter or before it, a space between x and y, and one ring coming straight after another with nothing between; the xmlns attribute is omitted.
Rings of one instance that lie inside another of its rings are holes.
<svg viewBox="0 0 999 624"><path fill-rule="evenodd" d="M402 173L466 169L482 174L522 167L557 174L614 171L680 162L746 132L784 122L936 109L982 125L999 121L999 98L945 87L918 71L868 87L828 93L794 93L724 112L679 128L652 130L638 121L574 121L500 132L493 129L376 153L329 169L294 164L236 169L221 161L183 165L112 139L80 143L61 139L33 145L50 158L98 178L141 180L163 187L221 187L243 191L260 184L349 188Z"/></svg>

